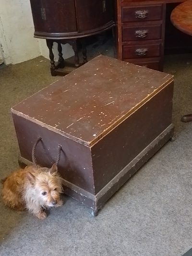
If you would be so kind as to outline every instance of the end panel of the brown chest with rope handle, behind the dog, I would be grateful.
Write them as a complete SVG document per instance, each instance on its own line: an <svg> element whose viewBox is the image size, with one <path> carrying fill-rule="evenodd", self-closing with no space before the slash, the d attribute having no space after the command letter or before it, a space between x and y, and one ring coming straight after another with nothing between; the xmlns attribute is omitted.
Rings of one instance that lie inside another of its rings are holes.
<svg viewBox="0 0 192 256"><path fill-rule="evenodd" d="M21 156L32 161L32 147L38 136L42 142L36 146L37 164L50 167L57 159L58 145L62 146L58 169L66 181L94 193L90 148L45 127L13 114L15 131Z"/></svg>

